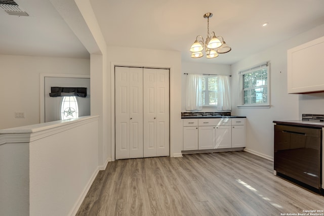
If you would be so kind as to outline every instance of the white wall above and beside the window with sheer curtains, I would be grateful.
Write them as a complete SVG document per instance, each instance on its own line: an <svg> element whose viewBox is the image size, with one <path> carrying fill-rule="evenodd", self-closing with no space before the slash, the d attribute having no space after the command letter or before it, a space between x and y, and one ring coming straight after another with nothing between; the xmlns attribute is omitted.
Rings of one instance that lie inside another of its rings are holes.
<svg viewBox="0 0 324 216"><path fill-rule="evenodd" d="M213 62L213 59L210 59ZM214 61L215 62L215 61ZM186 81L187 75L184 73L195 74L218 74L218 75L230 75L230 65L224 64L203 64L194 62L182 62L181 63L181 112L190 112L186 110ZM231 78L230 78L231 81ZM217 108L203 108L200 112L217 112Z"/></svg>

